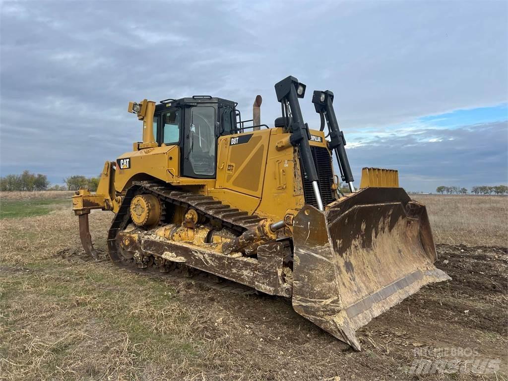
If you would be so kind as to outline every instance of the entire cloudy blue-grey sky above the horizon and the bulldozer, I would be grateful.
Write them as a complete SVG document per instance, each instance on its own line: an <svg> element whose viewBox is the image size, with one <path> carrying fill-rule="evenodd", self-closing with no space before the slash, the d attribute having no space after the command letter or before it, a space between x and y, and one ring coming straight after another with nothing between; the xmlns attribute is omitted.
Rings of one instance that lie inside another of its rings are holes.
<svg viewBox="0 0 508 381"><path fill-rule="evenodd" d="M508 182L508 9L472 2L3 1L0 174L97 175L141 139L129 101L211 94L262 121L293 75L330 89L357 184ZM302 100L309 125L319 116Z"/></svg>

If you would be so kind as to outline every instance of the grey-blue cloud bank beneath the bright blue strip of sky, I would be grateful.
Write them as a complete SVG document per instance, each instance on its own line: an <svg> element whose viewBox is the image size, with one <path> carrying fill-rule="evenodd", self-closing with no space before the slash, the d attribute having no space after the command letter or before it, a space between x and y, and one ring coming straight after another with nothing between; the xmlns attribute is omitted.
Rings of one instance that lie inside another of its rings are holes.
<svg viewBox="0 0 508 381"><path fill-rule="evenodd" d="M346 145L355 180L360 180L363 167L378 167L399 170L401 186L415 191L508 183L508 122L442 130L437 138L434 129L416 132L355 148Z"/></svg>

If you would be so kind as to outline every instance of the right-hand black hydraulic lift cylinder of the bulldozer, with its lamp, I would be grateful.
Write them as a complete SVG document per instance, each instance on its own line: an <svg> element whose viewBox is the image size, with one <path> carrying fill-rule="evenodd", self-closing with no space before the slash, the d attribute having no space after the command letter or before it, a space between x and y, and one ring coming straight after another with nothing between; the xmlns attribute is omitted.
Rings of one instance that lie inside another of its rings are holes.
<svg viewBox="0 0 508 381"><path fill-rule="evenodd" d="M324 115L328 123L328 130L330 131L330 142L328 146L335 152L339 165L340 177L342 181L347 182L351 192L355 192L355 187L353 185L355 179L353 178L353 173L351 172L351 167L344 148L346 140L344 139L344 134L339 129L339 123L337 122L335 110L333 109L333 92L330 90L314 91L312 94L312 103L314 104L316 112L320 114L321 120L323 120Z"/></svg>

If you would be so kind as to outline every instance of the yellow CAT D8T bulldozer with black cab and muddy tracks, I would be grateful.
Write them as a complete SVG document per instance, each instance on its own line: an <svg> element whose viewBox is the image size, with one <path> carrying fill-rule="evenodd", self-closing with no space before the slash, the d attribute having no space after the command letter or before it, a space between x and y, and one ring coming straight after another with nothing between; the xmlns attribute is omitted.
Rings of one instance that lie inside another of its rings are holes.
<svg viewBox="0 0 508 381"><path fill-rule="evenodd" d="M105 163L97 192L73 196L86 253L98 255L90 211L112 211L115 264L195 268L291 298L359 351L358 328L450 277L433 265L425 206L399 187L396 170L363 168L356 189L333 92L313 92L321 125L309 129L305 90L292 76L275 84L281 116L271 128L261 124L261 96L248 120L237 103L211 96L130 102L142 141Z"/></svg>

